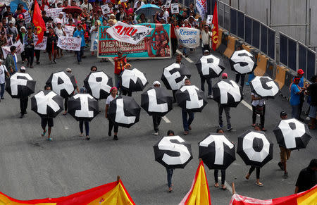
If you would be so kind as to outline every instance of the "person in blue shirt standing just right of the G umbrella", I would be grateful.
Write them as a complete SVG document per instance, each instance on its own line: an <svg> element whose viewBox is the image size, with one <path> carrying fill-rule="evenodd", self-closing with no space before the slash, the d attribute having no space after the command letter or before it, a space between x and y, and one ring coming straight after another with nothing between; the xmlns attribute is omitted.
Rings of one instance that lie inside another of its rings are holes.
<svg viewBox="0 0 317 205"><path fill-rule="evenodd" d="M290 104L292 106L292 118L297 118L299 119L300 113L299 113L299 107L300 107L300 97L304 89L299 87L299 81L300 78L294 77L294 81L291 86L291 97L290 97Z"/></svg>

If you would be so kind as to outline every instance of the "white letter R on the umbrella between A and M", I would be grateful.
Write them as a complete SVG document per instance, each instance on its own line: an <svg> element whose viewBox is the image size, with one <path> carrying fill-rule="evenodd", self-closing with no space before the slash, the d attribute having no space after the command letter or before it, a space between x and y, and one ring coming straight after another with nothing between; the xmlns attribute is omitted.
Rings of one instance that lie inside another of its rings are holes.
<svg viewBox="0 0 317 205"><path fill-rule="evenodd" d="M97 81L97 77L101 77L101 81ZM90 89L92 89L93 97L99 99L101 89L110 93L111 87L107 85L108 80L108 76L103 72L92 73L89 75L88 83Z"/></svg>

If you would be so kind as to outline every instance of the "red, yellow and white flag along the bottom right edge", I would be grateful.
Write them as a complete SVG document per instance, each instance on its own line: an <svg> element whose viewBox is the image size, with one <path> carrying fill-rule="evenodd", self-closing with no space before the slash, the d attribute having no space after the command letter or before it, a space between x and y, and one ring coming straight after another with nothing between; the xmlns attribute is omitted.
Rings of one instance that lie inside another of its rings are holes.
<svg viewBox="0 0 317 205"><path fill-rule="evenodd" d="M239 194L233 194L230 205L316 205L317 204L317 185L310 190L298 194L292 194L287 197L280 197L276 199L254 199L251 197L244 197Z"/></svg>

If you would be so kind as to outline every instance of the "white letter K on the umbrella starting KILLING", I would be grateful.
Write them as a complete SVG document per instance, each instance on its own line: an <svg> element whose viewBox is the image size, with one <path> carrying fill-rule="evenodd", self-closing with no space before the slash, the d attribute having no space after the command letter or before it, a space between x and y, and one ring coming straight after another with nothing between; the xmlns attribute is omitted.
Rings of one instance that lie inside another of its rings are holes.
<svg viewBox="0 0 317 205"><path fill-rule="evenodd" d="M49 94L44 94L44 92L39 92L38 94L35 94L35 99L37 101L37 112L46 115L47 106L49 106L54 112L59 110L59 106L54 101L54 97L56 97L56 93L49 92Z"/></svg>

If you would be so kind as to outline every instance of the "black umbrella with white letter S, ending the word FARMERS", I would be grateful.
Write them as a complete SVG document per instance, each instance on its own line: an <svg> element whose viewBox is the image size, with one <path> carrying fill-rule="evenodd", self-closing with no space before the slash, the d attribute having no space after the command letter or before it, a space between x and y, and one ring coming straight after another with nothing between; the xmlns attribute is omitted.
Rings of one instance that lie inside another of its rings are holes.
<svg viewBox="0 0 317 205"><path fill-rule="evenodd" d="M256 59L254 58L254 55L250 54L249 51L246 50L235 51L229 61L231 69L236 73L252 73L252 71L256 68Z"/></svg>

